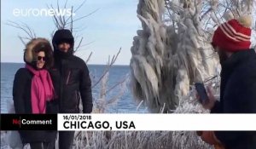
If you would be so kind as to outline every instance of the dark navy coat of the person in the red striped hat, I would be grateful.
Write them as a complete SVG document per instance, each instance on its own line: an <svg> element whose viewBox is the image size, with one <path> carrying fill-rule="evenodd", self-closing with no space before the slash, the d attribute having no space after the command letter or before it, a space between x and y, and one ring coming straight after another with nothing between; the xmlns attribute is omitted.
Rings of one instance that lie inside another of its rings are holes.
<svg viewBox="0 0 256 149"><path fill-rule="evenodd" d="M256 54L236 52L222 64L220 101L212 113L256 113ZM241 122L242 124L242 122ZM216 131L226 149L255 149L254 131Z"/></svg>

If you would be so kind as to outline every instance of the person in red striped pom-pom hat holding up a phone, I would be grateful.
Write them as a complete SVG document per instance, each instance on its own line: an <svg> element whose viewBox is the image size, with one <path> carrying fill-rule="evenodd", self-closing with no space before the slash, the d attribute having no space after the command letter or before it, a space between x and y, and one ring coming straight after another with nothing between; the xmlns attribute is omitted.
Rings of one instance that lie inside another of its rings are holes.
<svg viewBox="0 0 256 149"><path fill-rule="evenodd" d="M222 71L220 100L207 89L209 101L202 105L211 113L256 113L256 53L251 46L251 26L251 16L241 16L224 22L213 34L212 47L218 52ZM256 148L255 131L202 131L198 135L216 148Z"/></svg>

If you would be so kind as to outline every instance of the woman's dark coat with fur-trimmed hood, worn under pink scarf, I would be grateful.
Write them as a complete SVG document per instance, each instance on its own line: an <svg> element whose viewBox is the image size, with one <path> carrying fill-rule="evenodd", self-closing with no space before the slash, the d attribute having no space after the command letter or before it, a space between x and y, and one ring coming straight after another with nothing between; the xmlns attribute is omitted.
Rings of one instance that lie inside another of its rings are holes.
<svg viewBox="0 0 256 149"><path fill-rule="evenodd" d="M24 60L26 64L35 67L33 60L35 59L34 49L40 44L47 45L49 50L49 42L44 38L33 39L32 42L26 45ZM50 52L50 51L49 51ZM49 54L46 54L49 55ZM50 61L50 60L48 60ZM49 65L48 65L49 66ZM33 74L26 68L20 68L15 73L15 79L13 84L13 100L15 105L15 113L17 114L32 114L32 102L31 102L31 87L32 87ZM50 103L49 103L50 104ZM48 104L48 105L49 105ZM46 107L47 108L47 107ZM55 141L56 131L44 131L44 130L24 130L19 131L20 139L23 144L31 142L49 142Z"/></svg>

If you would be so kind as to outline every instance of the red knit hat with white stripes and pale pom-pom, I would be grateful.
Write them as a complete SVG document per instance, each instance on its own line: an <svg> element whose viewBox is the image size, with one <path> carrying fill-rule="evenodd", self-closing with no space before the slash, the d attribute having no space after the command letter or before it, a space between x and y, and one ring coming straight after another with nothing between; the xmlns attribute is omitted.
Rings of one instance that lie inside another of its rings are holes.
<svg viewBox="0 0 256 149"><path fill-rule="evenodd" d="M212 45L229 52L250 49L252 34L250 26L252 26L252 18L248 15L237 20L229 20L218 26L212 37Z"/></svg>

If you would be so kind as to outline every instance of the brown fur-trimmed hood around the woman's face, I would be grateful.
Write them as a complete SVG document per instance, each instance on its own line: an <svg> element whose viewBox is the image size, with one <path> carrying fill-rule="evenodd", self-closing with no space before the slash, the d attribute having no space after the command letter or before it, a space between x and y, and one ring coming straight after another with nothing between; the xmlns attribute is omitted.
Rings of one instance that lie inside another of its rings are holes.
<svg viewBox="0 0 256 149"><path fill-rule="evenodd" d="M47 39L43 37L33 38L29 43L26 44L24 51L24 61L29 64L33 64L37 61L37 53L44 51L46 57L46 64L52 66L53 63L53 50Z"/></svg>

